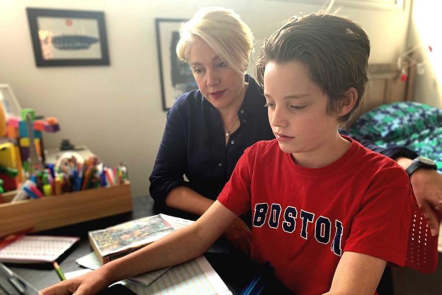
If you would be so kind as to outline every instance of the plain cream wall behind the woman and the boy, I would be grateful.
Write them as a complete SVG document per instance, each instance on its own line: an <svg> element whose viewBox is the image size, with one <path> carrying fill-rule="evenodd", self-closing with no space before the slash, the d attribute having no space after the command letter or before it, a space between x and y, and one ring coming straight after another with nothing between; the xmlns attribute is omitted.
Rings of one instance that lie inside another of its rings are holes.
<svg viewBox="0 0 442 295"><path fill-rule="evenodd" d="M22 107L57 117L61 132L45 133L46 147L70 139L87 145L106 165L125 160L133 195L146 195L166 123L154 19L190 18L206 6L234 9L257 40L292 15L320 9L276 0L0 0L0 83L12 86ZM399 12L344 8L338 15L367 31L371 63L394 62L406 46L408 1L406 6ZM26 7L104 11L111 65L35 67Z"/></svg>

